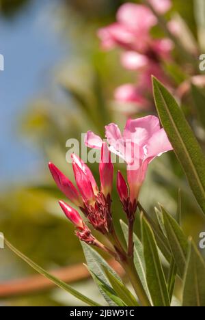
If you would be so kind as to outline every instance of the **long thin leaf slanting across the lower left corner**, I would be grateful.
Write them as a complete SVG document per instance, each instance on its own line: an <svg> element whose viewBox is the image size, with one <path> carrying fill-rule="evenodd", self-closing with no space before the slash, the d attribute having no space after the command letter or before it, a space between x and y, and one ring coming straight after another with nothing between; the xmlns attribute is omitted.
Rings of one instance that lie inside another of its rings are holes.
<svg viewBox="0 0 205 320"><path fill-rule="evenodd" d="M39 265L31 261L29 258L27 258L27 256L25 256L23 253L21 253L16 248L14 248L14 246L6 239L5 239L5 244L8 246L8 248L10 248L10 250L12 250L12 252L14 252L20 258L22 258L28 265L30 265L33 269L35 269L39 274L42 274L42 276L51 280L51 282L59 286L59 288L67 291L74 297L77 297L77 299L81 300L82 302L85 302L85 304L88 304L88 306L100 306L100 304L98 304L97 302L94 302L92 299L89 299L85 295L82 295L78 291L74 290L71 286L66 284L66 282L63 282L58 278L55 278L55 276L52 276L51 274L49 274L49 272L44 270L42 267L40 267Z"/></svg>

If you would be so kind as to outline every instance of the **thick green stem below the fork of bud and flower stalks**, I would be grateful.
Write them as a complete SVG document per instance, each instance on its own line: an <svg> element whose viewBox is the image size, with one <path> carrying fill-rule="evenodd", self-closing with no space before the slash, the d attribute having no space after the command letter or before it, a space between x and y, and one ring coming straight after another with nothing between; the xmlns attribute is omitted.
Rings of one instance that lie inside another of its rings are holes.
<svg viewBox="0 0 205 320"><path fill-rule="evenodd" d="M127 261L123 262L122 267L126 271L126 274L133 285L133 289L135 290L141 306L152 306L135 269L133 258L128 258Z"/></svg>

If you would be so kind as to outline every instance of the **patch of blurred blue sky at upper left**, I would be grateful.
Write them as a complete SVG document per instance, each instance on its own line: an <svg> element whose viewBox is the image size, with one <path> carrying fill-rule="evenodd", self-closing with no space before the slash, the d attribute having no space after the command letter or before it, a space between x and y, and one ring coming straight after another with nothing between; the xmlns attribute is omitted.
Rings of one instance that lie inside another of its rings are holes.
<svg viewBox="0 0 205 320"><path fill-rule="evenodd" d="M16 132L23 108L46 87L49 71L66 52L66 44L49 25L53 5L55 0L35 0L12 20L0 20L0 53L5 59L0 72L1 181L29 174L40 159Z"/></svg>

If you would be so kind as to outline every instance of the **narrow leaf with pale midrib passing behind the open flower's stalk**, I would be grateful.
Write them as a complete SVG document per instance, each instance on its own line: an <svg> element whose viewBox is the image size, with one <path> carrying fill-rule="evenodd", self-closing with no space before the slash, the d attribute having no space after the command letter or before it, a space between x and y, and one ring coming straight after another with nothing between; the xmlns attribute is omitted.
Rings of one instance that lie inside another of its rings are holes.
<svg viewBox="0 0 205 320"><path fill-rule="evenodd" d="M122 231L124 233L124 237L126 239L126 243L128 243L128 226L120 220L120 224L122 227ZM148 296L150 296L149 290L148 290L148 284L146 280L146 266L143 256L143 245L141 244L141 241L138 239L137 235L133 235L133 241L134 241L134 263L135 268L137 270L137 274L139 276L139 279L141 280L141 284L143 285L143 289L145 289Z"/></svg>

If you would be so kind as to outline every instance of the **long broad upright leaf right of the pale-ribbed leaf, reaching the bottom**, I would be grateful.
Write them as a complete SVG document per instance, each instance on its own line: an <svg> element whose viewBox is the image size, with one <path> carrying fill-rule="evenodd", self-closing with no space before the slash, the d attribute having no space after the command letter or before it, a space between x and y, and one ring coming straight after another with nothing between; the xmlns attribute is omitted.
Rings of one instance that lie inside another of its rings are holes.
<svg viewBox="0 0 205 320"><path fill-rule="evenodd" d="M152 302L154 306L170 306L169 293L167 291L165 275L159 259L154 234L150 225L143 217L141 219L141 226L143 250L146 262L146 278Z"/></svg>

